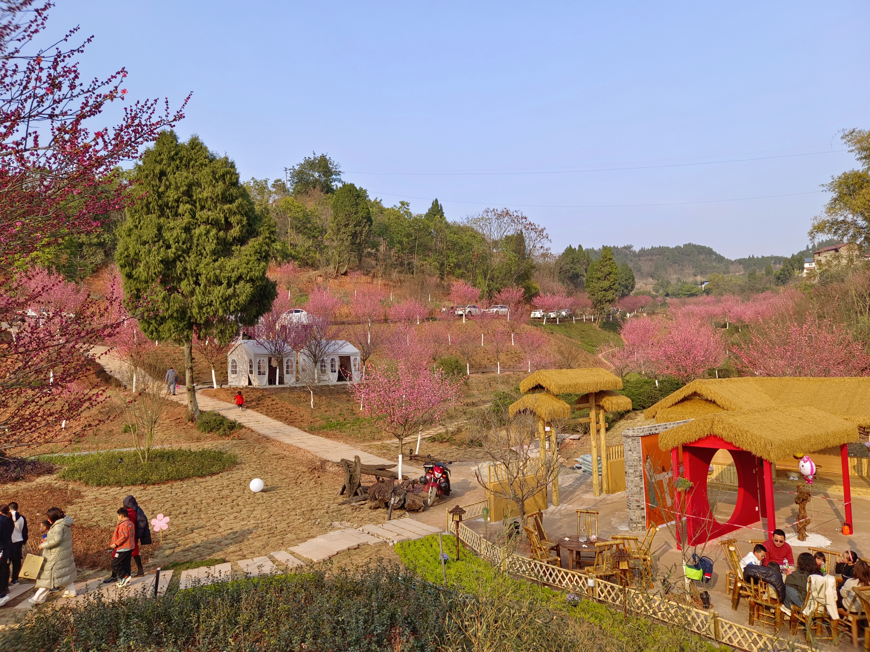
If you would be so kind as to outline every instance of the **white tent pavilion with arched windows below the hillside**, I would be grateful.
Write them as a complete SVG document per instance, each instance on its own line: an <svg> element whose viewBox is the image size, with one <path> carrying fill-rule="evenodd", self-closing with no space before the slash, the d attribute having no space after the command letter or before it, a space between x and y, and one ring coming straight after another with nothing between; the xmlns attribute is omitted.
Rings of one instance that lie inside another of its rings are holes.
<svg viewBox="0 0 870 652"><path fill-rule="evenodd" d="M334 348L334 353L320 361L318 384L357 382L361 371L359 349L345 340L335 341ZM227 354L227 378L231 387L301 384L300 375L305 375L310 368L311 360L305 352L291 353L282 361L271 356L256 340L239 340Z"/></svg>

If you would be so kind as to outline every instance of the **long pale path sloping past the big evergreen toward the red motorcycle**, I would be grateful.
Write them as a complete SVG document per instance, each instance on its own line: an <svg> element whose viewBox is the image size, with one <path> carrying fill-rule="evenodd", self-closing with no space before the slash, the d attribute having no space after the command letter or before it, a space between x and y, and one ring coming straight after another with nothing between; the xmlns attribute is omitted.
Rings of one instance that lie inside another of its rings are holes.
<svg viewBox="0 0 870 652"><path fill-rule="evenodd" d="M103 365L108 373L115 376L122 383L131 385L132 379L129 377L129 370L125 368L126 365L117 358L117 356L113 356L110 353L106 354L105 352L108 350L109 348L104 346L97 346L91 349L92 353L95 356L98 356L97 362ZM138 373L142 374L144 377L143 371L139 371ZM187 396L185 396L185 394L185 392L180 392L177 395L169 396L169 398L177 403L186 403ZM212 396L204 396L203 394L197 393L197 403L199 409L203 411L214 410L215 412L219 412L228 419L238 421L245 427L258 432L260 435L271 437L278 442L289 443L291 446L307 450L309 453L313 453L314 455L329 460L330 462L340 462L342 459L352 460L354 456L359 456L360 461L364 464L396 463L386 460L383 457L366 453L364 450L355 449L346 443L336 442L335 440L327 439L326 437L311 435L311 433L305 432L305 430L287 425L286 423L272 419L269 416L261 415L254 410L240 410L232 403L226 403L225 401L221 401ZM403 464L402 475L409 477L421 476L423 475L423 469Z"/></svg>

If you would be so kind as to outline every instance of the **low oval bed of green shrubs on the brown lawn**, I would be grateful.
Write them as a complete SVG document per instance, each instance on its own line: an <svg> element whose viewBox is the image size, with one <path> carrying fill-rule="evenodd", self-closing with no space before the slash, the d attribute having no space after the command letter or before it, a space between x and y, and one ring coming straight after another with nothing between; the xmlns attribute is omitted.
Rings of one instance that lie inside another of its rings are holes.
<svg viewBox="0 0 870 652"><path fill-rule="evenodd" d="M152 449L145 463L139 462L135 450L92 455L52 455L41 459L64 467L57 474L61 479L84 482L92 487L159 484L189 477L211 476L238 462L234 454L214 449Z"/></svg>

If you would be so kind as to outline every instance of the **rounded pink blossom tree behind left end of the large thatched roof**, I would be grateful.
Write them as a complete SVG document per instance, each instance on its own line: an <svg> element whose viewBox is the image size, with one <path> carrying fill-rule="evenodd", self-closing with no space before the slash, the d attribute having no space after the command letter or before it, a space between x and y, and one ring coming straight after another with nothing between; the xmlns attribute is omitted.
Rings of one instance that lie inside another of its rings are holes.
<svg viewBox="0 0 870 652"><path fill-rule="evenodd" d="M646 320L637 320L646 321ZM661 373L688 383L725 360L725 343L710 323L678 316L659 337L655 356Z"/></svg>

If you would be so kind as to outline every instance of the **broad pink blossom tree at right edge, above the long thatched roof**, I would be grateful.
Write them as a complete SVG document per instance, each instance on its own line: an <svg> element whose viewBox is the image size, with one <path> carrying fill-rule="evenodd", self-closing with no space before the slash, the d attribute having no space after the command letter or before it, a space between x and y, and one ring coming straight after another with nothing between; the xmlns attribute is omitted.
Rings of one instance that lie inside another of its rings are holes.
<svg viewBox="0 0 870 652"><path fill-rule="evenodd" d="M740 370L752 376L870 375L860 343L836 324L807 316L765 320L732 350Z"/></svg>

